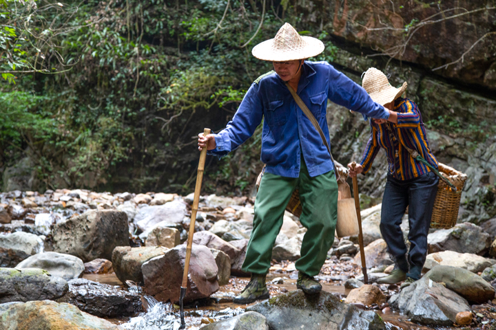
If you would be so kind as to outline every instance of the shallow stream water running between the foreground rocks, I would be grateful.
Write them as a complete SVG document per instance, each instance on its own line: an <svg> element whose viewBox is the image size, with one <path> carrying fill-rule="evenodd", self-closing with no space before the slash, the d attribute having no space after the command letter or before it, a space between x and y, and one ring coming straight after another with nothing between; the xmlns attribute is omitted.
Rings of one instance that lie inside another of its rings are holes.
<svg viewBox="0 0 496 330"><path fill-rule="evenodd" d="M290 292L296 289L296 278L293 274L269 274L267 282L271 292L271 296L276 294ZM180 327L179 307L172 303L161 303L153 297L143 294L141 287L127 288L121 281L118 280L114 273L112 274L85 274L83 278L99 283L116 285L125 290L137 291L142 294L144 312L127 318L110 319L117 325L129 330L177 330ZM279 279L280 278L280 279ZM276 281L274 281L276 280ZM281 281L282 280L282 281ZM186 329L198 330L201 327L231 318L238 314L242 314L245 308L249 305L236 305L232 303L232 298L240 292L248 283L249 278L231 277L229 285L220 287L219 291L211 296L210 299L203 300L197 305L189 305L185 307L185 323ZM282 282L280 284L280 282ZM349 289L344 288L341 283L322 284L322 289L326 292L331 292L340 298L345 298L349 293ZM258 302L256 302L258 303ZM254 303L254 304L256 304ZM254 305L252 304L252 305ZM395 312L383 313L380 310L376 311L386 322L388 330L450 330L459 329L454 327L426 327L409 322L406 316Z"/></svg>

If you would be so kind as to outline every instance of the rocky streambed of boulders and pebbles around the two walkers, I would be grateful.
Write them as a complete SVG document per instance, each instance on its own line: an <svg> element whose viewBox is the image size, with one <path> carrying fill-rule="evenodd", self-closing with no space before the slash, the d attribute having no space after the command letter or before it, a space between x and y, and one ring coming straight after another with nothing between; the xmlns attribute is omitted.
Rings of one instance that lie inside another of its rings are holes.
<svg viewBox="0 0 496 330"><path fill-rule="evenodd" d="M88 190L0 193L0 318L5 329L178 329L179 288L192 195ZM323 292L296 290L305 228L285 214L267 276L271 298L232 299L253 200L204 196L196 219L185 316L188 329L496 329L496 226L459 223L428 236L420 281L364 285L357 237L336 239ZM362 210L369 280L393 261L380 205ZM408 225L403 228L407 240ZM37 315L37 318L33 318ZM3 329L3 328L2 328Z"/></svg>

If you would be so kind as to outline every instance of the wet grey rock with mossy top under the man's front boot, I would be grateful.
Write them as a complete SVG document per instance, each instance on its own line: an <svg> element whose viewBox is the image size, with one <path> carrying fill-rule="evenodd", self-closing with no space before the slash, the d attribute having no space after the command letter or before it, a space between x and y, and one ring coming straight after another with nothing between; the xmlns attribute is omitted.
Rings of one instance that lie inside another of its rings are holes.
<svg viewBox="0 0 496 330"><path fill-rule="evenodd" d="M339 298L324 291L305 295L296 290L249 306L246 310L265 316L269 329L273 330L386 329L384 321L375 312L341 303Z"/></svg>

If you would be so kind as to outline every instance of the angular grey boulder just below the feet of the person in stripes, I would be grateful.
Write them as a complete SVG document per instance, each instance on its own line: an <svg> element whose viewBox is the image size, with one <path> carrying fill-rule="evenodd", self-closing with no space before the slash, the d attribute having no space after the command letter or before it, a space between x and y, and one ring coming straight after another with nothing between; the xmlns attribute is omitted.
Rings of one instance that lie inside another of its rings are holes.
<svg viewBox="0 0 496 330"><path fill-rule="evenodd" d="M449 326L460 311L470 311L467 301L440 283L421 278L389 300L412 322L431 326Z"/></svg>

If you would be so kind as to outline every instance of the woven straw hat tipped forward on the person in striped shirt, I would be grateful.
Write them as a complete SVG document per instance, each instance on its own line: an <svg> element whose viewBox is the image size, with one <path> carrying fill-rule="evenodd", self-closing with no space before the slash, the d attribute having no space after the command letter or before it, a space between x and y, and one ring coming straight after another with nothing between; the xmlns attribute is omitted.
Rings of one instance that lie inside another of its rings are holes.
<svg viewBox="0 0 496 330"><path fill-rule="evenodd" d="M393 102L402 96L407 86L406 81L401 88L391 86L386 75L375 67L368 69L362 80L362 87L369 93L371 99L381 105Z"/></svg>

